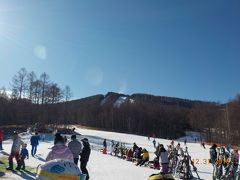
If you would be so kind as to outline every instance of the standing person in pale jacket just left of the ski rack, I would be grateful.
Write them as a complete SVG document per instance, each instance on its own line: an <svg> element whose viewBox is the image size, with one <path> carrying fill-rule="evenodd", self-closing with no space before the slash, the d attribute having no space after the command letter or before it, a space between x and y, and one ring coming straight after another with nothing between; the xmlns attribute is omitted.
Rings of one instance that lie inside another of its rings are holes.
<svg viewBox="0 0 240 180"><path fill-rule="evenodd" d="M159 152L158 157L159 157L159 164L161 164L161 166L162 166L160 173L167 174L168 173L168 164L169 164L168 153L162 144L160 145L160 152Z"/></svg>

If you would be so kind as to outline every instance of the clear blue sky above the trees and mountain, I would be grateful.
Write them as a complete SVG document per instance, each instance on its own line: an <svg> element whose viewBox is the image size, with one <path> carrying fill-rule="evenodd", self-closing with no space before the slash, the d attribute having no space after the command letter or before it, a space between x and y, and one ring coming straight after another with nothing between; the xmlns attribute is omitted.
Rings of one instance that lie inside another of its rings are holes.
<svg viewBox="0 0 240 180"><path fill-rule="evenodd" d="M0 86L21 68L108 91L226 102L240 93L239 0L0 0Z"/></svg>

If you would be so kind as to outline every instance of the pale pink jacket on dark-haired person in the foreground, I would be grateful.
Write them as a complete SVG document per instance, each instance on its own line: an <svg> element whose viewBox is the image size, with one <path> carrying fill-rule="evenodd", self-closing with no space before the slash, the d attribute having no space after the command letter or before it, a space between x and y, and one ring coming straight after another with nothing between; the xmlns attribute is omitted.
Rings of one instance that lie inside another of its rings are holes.
<svg viewBox="0 0 240 180"><path fill-rule="evenodd" d="M73 154L66 145L56 144L52 147L52 150L48 153L46 161L50 161L53 159L64 159L73 161Z"/></svg>

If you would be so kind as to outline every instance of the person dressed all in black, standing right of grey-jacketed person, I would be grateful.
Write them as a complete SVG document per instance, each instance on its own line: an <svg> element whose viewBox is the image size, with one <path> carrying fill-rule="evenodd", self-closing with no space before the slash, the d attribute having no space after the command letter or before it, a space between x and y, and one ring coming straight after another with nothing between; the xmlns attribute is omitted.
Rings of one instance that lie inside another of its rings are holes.
<svg viewBox="0 0 240 180"><path fill-rule="evenodd" d="M90 144L89 144L87 138L84 138L81 141L83 143L83 149L82 149L82 152L80 154L81 155L81 158L80 158L81 171L82 171L83 174L87 175L86 180L88 180L89 179L89 174L88 174L88 170L87 170L87 162L89 160L91 149L90 149Z"/></svg>

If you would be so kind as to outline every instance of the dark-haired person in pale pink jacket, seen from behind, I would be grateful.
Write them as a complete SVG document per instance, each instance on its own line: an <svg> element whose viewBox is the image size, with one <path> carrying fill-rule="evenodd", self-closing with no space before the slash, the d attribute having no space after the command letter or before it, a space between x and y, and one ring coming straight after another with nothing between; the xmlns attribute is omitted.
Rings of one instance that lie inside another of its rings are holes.
<svg viewBox="0 0 240 180"><path fill-rule="evenodd" d="M70 149L64 144L64 138L60 133L56 133L54 139L54 146L52 150L48 153L46 161L53 159L64 159L73 161L73 154Z"/></svg>

